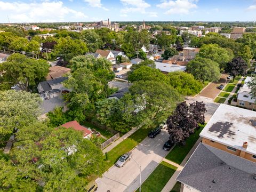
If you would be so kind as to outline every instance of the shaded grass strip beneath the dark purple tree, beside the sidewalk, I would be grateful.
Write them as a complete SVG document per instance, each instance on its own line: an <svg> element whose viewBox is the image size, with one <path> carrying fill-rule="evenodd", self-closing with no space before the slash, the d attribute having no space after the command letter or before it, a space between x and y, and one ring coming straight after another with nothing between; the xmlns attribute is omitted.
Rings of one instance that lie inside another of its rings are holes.
<svg viewBox="0 0 256 192"><path fill-rule="evenodd" d="M165 158L169 159L172 162L181 164L183 159L189 153L190 149L195 145L196 141L199 139L199 133L203 130L204 126L205 125L201 125L200 129L195 130L195 133L189 136L189 138L186 140L185 146L175 146Z"/></svg>

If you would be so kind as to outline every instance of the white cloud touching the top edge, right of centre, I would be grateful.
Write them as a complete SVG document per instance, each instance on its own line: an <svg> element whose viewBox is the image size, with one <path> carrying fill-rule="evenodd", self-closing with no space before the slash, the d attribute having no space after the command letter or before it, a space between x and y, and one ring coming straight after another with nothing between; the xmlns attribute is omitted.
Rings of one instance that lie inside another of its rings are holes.
<svg viewBox="0 0 256 192"><path fill-rule="evenodd" d="M161 9L168 9L165 14L188 14L191 9L197 8L198 0L163 0L161 2L156 6Z"/></svg>

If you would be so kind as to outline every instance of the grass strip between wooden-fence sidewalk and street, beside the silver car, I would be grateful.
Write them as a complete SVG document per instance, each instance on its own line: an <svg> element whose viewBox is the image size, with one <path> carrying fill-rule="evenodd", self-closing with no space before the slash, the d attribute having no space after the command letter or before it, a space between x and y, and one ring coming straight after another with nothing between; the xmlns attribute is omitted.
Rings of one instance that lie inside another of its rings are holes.
<svg viewBox="0 0 256 192"><path fill-rule="evenodd" d="M116 147L111 149L108 152L108 160L107 160L107 169L109 169L112 165L114 165L117 159L132 150L135 146L137 146L143 139L145 139L148 135L150 128L146 129L141 127L135 133L130 135L127 139L123 140Z"/></svg>

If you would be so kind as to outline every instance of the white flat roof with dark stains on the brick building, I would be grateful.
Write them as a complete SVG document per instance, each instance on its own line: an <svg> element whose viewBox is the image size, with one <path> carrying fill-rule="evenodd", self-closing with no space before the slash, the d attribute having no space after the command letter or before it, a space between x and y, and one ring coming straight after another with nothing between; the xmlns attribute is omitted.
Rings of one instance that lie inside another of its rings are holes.
<svg viewBox="0 0 256 192"><path fill-rule="evenodd" d="M200 136L256 155L256 112L221 104Z"/></svg>

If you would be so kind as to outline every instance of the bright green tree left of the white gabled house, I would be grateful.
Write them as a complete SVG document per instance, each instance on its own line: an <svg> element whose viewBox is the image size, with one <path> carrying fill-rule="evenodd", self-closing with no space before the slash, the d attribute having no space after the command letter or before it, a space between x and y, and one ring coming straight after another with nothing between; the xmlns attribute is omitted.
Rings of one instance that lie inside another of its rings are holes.
<svg viewBox="0 0 256 192"><path fill-rule="evenodd" d="M86 44L78 39L59 38L57 45L54 46L54 52L65 61L70 61L73 57L88 52Z"/></svg>

